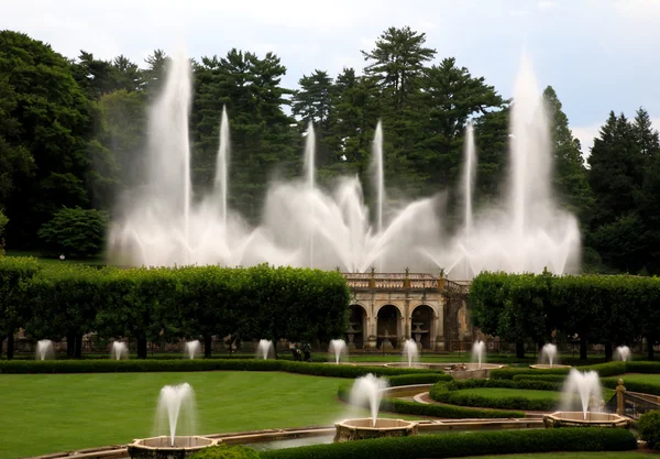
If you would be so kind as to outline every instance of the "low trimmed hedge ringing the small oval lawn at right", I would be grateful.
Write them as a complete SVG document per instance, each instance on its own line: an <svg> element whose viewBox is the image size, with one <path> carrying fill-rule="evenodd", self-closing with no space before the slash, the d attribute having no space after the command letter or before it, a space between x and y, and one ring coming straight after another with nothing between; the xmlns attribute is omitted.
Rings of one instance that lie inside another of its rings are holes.
<svg viewBox="0 0 660 459"><path fill-rule="evenodd" d="M497 409L547 411L557 405L557 400L530 400L524 396L485 397L458 391L474 387L525 389L536 391L558 391L561 384L546 381L510 380L464 380L450 383L437 383L431 387L430 396L437 402L461 406L479 406Z"/></svg>

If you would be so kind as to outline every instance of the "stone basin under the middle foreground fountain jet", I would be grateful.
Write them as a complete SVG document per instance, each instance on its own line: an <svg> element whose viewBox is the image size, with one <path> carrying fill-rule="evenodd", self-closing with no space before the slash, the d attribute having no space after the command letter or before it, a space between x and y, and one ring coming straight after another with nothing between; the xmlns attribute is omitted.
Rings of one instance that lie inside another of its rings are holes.
<svg viewBox="0 0 660 459"><path fill-rule="evenodd" d="M334 424L334 441L364 440L366 438L409 437L418 434L417 423L404 419L376 418L374 426L371 417L345 419Z"/></svg>

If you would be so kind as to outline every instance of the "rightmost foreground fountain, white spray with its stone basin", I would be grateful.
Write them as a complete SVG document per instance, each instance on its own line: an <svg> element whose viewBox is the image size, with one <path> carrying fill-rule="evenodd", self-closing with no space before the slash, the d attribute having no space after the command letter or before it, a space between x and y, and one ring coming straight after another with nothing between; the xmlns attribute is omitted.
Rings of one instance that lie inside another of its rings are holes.
<svg viewBox="0 0 660 459"><path fill-rule="evenodd" d="M573 409L575 396L582 411ZM559 412L543 415L549 427L628 427L630 420L617 414L603 413L601 381L595 371L580 372L572 369L562 390Z"/></svg>

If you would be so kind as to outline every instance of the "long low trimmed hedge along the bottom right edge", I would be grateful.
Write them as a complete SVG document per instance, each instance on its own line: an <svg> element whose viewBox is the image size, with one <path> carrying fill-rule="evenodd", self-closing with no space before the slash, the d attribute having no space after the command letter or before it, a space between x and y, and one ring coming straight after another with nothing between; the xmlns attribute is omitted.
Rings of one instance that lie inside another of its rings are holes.
<svg viewBox="0 0 660 459"><path fill-rule="evenodd" d="M637 449L626 429L560 428L378 438L261 452L262 459L440 459L483 455Z"/></svg>

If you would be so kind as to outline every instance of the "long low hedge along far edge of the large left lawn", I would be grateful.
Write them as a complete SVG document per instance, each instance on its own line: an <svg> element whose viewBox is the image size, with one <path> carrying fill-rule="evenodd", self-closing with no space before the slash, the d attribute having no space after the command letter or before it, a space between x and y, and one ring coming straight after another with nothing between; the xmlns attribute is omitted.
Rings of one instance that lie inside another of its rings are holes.
<svg viewBox="0 0 660 459"><path fill-rule="evenodd" d="M263 359L166 359L166 360L3 360L0 373L114 373L165 371L286 371L330 378L359 378L367 373L378 376L429 374L441 371L389 367L333 365ZM447 375L443 375L447 378Z"/></svg>

